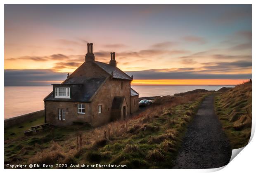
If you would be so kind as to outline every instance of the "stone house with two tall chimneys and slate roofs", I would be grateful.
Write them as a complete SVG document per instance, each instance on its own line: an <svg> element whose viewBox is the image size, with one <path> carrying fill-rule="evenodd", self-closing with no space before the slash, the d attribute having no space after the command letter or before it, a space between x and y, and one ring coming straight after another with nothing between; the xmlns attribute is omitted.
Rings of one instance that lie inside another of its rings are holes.
<svg viewBox="0 0 256 173"><path fill-rule="evenodd" d="M73 122L100 126L128 119L138 110L139 94L130 87L133 77L116 67L115 52L109 64L95 61L92 43L85 62L61 84L52 84L45 97L45 122L55 126Z"/></svg>

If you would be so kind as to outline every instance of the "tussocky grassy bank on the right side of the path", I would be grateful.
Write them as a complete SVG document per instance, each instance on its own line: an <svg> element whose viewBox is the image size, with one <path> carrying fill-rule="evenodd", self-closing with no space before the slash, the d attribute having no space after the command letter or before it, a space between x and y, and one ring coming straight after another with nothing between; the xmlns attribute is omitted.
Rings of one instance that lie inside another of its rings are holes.
<svg viewBox="0 0 256 173"><path fill-rule="evenodd" d="M219 92L215 108L232 149L247 145L251 136L251 82Z"/></svg>

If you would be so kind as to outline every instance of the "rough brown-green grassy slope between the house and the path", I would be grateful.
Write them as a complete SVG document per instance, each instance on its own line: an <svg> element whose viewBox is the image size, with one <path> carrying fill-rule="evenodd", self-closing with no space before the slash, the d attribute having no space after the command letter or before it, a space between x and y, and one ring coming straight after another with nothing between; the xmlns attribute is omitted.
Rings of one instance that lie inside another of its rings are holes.
<svg viewBox="0 0 256 173"><path fill-rule="evenodd" d="M157 98L129 121L54 128L5 138L5 164L114 164L171 168L187 124L207 93ZM9 131L11 129L6 129Z"/></svg>

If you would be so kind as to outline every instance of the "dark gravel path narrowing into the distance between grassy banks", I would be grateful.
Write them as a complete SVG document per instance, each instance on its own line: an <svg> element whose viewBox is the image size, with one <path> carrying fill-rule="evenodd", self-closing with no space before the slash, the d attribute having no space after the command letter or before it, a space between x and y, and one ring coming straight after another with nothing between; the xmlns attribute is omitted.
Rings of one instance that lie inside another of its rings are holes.
<svg viewBox="0 0 256 173"><path fill-rule="evenodd" d="M232 150L213 104L213 96L201 103L187 128L173 168L218 168L228 164Z"/></svg>

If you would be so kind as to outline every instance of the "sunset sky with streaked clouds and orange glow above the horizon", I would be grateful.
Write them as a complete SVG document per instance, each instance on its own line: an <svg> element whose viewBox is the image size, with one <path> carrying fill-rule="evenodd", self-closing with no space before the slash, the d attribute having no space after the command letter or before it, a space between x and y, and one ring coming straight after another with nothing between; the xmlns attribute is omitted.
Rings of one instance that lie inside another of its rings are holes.
<svg viewBox="0 0 256 173"><path fill-rule="evenodd" d="M61 83L88 42L132 85L236 85L251 78L251 5L5 5L5 86Z"/></svg>

